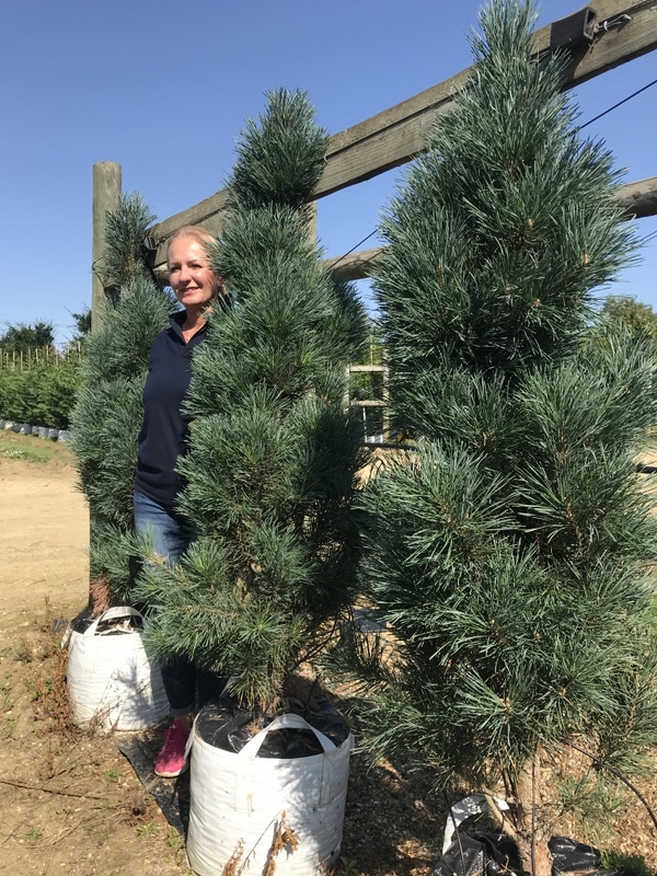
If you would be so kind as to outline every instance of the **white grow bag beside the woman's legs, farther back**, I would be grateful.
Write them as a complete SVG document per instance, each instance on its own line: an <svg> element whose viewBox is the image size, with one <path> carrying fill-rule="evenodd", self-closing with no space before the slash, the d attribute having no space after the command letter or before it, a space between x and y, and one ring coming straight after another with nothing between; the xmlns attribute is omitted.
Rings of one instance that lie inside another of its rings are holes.
<svg viewBox="0 0 657 876"><path fill-rule="evenodd" d="M149 661L139 630L99 633L101 621L130 616L143 621L129 606L107 609L83 633L71 629L65 636L69 698L80 726L93 722L99 729L140 730L169 714L160 668Z"/></svg>

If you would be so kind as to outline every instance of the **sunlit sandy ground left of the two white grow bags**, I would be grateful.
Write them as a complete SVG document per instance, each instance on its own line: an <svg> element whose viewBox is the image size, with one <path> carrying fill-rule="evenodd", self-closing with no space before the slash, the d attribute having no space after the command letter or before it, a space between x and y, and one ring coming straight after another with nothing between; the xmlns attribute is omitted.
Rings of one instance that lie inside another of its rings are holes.
<svg viewBox="0 0 657 876"><path fill-rule="evenodd" d="M185 873L182 842L115 740L66 721L55 621L87 604L89 586L74 480L65 459L0 459L0 873Z"/></svg>

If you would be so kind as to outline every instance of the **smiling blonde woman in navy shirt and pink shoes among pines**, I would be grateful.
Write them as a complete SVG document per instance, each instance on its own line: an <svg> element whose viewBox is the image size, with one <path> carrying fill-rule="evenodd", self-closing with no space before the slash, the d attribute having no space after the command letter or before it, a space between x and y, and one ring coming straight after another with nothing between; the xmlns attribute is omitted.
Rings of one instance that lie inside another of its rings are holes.
<svg viewBox="0 0 657 876"><path fill-rule="evenodd" d="M135 529L149 534L154 553L175 564L192 540L187 520L175 511L183 480L175 471L185 452L188 417L183 400L192 379L192 356L206 338L206 314L222 293L221 278L211 269L208 246L215 238L201 228L185 226L169 240L169 283L183 310L173 313L169 328L153 341L143 389L143 423L139 434L135 475ZM196 701L196 670L185 660L162 667L164 690L174 716L157 775L173 777L185 769L185 746Z"/></svg>

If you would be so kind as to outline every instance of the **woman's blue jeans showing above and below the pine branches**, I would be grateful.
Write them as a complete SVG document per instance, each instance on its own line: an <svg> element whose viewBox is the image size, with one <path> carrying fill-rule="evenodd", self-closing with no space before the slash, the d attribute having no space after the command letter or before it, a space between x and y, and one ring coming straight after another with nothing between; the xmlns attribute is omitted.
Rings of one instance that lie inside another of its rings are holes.
<svg viewBox="0 0 657 876"><path fill-rule="evenodd" d="M164 556L170 566L176 565L188 548L192 526L173 508L135 491L135 531L150 535L153 552ZM161 667L162 681L171 713L186 715L196 702L196 668L184 657L175 657Z"/></svg>

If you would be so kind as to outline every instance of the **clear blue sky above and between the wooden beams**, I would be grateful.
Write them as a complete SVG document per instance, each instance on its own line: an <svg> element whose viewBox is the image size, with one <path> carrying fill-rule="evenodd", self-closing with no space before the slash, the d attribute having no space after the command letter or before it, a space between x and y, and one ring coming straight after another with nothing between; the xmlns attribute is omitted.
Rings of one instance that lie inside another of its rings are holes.
<svg viewBox="0 0 657 876"><path fill-rule="evenodd" d="M330 132L470 65L477 0L21 0L2 13L0 331L49 320L58 343L91 300L92 166L116 161L158 219L222 188L264 94L304 89ZM579 8L546 0L539 25ZM583 122L657 78L657 53L573 92ZM587 128L657 175L657 87ZM327 255L374 230L401 171L319 203ZM655 218L639 232L657 230ZM377 245L376 239L365 244ZM657 310L657 240L610 291ZM8 273L11 268L11 273ZM367 296L367 284L361 285Z"/></svg>

